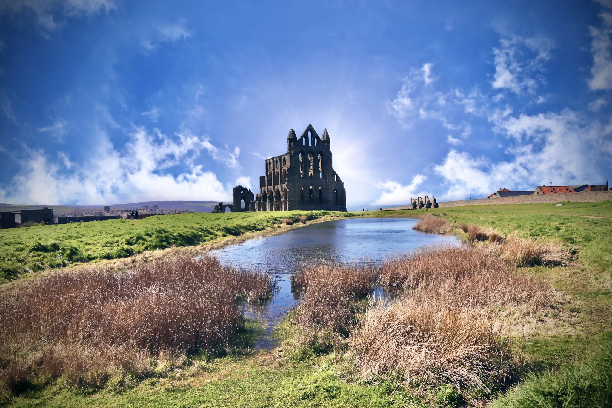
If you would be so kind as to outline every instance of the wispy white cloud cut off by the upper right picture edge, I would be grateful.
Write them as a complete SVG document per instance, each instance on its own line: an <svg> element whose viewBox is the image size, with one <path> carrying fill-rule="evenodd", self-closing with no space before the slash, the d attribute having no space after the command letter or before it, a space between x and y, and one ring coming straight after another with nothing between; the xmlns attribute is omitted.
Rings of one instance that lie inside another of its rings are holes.
<svg viewBox="0 0 612 408"><path fill-rule="evenodd" d="M612 13L602 12L599 17L603 20L602 27L591 27L593 66L589 88L594 91L612 89Z"/></svg>

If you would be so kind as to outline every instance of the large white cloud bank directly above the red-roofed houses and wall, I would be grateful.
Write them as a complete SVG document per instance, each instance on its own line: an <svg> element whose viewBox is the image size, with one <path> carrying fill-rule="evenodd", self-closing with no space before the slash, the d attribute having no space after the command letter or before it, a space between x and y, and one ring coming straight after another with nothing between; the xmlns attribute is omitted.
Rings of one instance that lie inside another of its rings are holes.
<svg viewBox="0 0 612 408"><path fill-rule="evenodd" d="M577 112L491 115L494 130L513 140L511 161L491 162L451 150L435 172L445 179L447 199L486 196L500 187L535 189L542 184L599 183L612 164L612 123L592 123Z"/></svg>

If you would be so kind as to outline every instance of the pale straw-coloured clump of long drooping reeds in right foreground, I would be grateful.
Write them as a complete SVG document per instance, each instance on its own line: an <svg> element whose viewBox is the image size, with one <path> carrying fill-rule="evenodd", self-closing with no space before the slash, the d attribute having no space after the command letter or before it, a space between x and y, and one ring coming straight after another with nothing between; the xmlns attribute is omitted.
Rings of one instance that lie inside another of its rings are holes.
<svg viewBox="0 0 612 408"><path fill-rule="evenodd" d="M351 336L351 354L364 377L396 372L420 387L446 382L487 391L510 360L494 327L491 312L449 306L425 293L389 304L371 300Z"/></svg>

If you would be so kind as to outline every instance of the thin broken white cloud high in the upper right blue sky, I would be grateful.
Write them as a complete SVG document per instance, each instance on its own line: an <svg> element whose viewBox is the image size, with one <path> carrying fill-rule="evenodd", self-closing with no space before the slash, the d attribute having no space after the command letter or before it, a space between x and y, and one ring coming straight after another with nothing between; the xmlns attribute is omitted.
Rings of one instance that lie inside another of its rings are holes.
<svg viewBox="0 0 612 408"><path fill-rule="evenodd" d="M534 93L538 83L545 82L539 72L543 72L543 62L551 58L554 42L542 36L524 39L506 35L499 43L499 48L493 48L493 88L510 89L516 94ZM526 54L531 54L531 58L524 58Z"/></svg>

